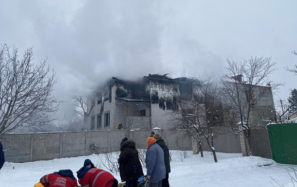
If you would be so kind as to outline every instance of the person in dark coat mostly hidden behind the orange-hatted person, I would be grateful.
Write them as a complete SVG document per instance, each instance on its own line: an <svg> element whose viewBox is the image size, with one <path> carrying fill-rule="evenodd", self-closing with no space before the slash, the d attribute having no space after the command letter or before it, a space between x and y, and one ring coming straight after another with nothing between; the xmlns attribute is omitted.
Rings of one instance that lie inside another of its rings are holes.
<svg viewBox="0 0 297 187"><path fill-rule="evenodd" d="M156 138L156 143L163 149L164 152L164 162L165 162L165 168L166 168L166 178L162 180L162 187L169 187L169 173L170 173L170 155L167 145L164 142L164 139L162 139L162 136L159 134L155 134L153 136Z"/></svg>

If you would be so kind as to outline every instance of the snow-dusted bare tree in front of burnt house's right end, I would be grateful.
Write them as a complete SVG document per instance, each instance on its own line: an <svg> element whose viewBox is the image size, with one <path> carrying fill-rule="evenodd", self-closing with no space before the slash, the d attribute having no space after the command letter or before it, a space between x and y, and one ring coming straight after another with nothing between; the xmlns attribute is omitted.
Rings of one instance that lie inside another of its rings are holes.
<svg viewBox="0 0 297 187"><path fill-rule="evenodd" d="M213 76L207 81L201 81L199 93L191 101L179 100L181 114L175 115L177 126L186 129L199 143L202 152L201 138L213 153L214 161L217 156L214 146L216 137L223 134L223 105L220 99L220 90L216 82L212 82ZM203 152L202 152L203 155Z"/></svg>

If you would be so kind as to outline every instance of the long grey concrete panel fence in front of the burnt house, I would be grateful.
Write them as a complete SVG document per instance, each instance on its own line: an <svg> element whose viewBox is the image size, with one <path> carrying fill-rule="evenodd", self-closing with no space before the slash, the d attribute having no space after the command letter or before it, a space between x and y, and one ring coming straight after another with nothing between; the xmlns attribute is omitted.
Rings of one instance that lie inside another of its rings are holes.
<svg viewBox="0 0 297 187"><path fill-rule="evenodd" d="M169 150L193 150L191 136L185 130L153 130L161 134ZM137 148L147 149L146 139L151 130L130 132ZM59 132L2 135L1 142L8 162L30 162L54 158L90 155L91 144L99 148L99 153L119 151L126 130L104 130L92 132ZM210 151L204 138L201 138L204 151ZM223 153L242 153L239 136L223 134L215 139L215 149ZM272 158L268 132L266 129L253 130L253 155Z"/></svg>

